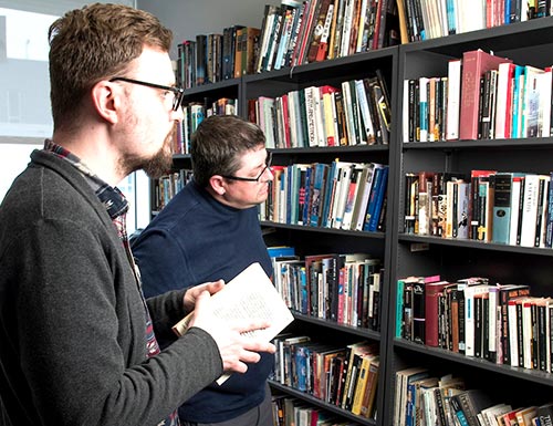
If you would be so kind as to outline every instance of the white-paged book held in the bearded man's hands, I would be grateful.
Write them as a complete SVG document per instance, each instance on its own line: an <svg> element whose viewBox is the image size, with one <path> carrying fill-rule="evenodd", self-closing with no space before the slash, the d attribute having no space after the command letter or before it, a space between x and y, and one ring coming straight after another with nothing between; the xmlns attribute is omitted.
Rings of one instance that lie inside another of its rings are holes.
<svg viewBox="0 0 553 426"><path fill-rule="evenodd" d="M269 342L279 334L294 318L282 300L267 273L258 262L250 264L211 297L213 312L220 320L265 320L270 326L254 330L244 335ZM189 326L194 312L173 326L177 335L182 335ZM217 381L225 383L225 374Z"/></svg>

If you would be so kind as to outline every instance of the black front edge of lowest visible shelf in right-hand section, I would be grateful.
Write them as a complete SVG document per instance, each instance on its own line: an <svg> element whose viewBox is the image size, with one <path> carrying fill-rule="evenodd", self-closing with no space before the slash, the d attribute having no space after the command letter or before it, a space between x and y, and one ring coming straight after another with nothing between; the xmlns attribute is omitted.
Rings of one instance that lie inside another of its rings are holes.
<svg viewBox="0 0 553 426"><path fill-rule="evenodd" d="M477 367L487 371L493 371L500 373L502 375L509 375L512 377L521 378L526 382L539 383L546 386L553 387L553 374L538 371L538 370L529 370L522 367L513 367L510 365L503 364L494 364L487 360L481 360L471 356L465 356L462 354L458 354L451 351L447 351L439 347L430 347L422 344L408 342L401 339L394 340L394 346L400 347L404 350L409 350L413 352L419 352L425 355L439 357L442 360L450 361L457 364L469 365L471 367Z"/></svg>

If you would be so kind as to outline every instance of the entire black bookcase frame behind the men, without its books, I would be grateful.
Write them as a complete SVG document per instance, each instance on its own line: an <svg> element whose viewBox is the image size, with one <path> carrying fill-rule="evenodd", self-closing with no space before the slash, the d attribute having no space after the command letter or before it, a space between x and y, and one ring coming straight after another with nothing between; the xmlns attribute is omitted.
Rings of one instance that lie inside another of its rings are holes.
<svg viewBox="0 0 553 426"><path fill-rule="evenodd" d="M479 357L416 344L396 337L395 333L398 297L396 282L407 276L440 274L447 280L488 277L492 282L528 283L533 294L553 295L551 249L418 236L406 233L404 230L406 173L441 170L470 174L472 169L497 169L544 174L551 170L551 137L408 144L403 142L403 81L447 75L450 59L462 58L463 52L476 49L491 50L497 55L510 58L520 64L549 66L549 55L544 52L553 49L553 18L417 41L293 69L244 75L187 91L187 100L198 102L202 102L204 97L236 96L239 100L239 114L247 117L248 101L258 96L281 96L311 85L336 85L346 80L363 79L376 69L380 69L386 76L394 120L389 145L273 150L273 164L281 166L316 162L328 164L336 157L346 162L389 165L386 232L346 231L273 221L261 224L268 245L293 246L301 258L324 252L368 252L383 260L387 273L380 284L383 316L379 332L301 314L295 315L296 321L293 324L298 333L313 333L333 342L366 339L379 343L382 364L376 398L378 416L376 420L354 416L302 392L273 383L275 391L328 409L344 419L378 426L394 424L395 374L408 366L426 366L440 374L453 373L462 376L468 388L482 388L498 402L509 402L513 406L545 404L551 398L551 373L499 365ZM180 167L188 160L186 155L177 156L176 166Z"/></svg>

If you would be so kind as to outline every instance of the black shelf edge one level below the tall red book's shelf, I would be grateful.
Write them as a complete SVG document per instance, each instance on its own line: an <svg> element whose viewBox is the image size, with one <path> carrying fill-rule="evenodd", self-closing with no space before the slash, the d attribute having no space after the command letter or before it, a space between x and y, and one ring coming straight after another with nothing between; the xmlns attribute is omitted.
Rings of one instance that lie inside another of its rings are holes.
<svg viewBox="0 0 553 426"><path fill-rule="evenodd" d="M493 242L476 241L476 240L459 240L455 238L440 238L440 237L422 237L408 233L400 233L398 236L399 242L419 242L439 246L450 246L450 247L466 247L479 250L490 250L490 251L503 251L513 253L524 253L532 256L549 256L553 257L553 249L551 248L540 248L540 247L522 247L522 246L509 246L509 245L498 245Z"/></svg>

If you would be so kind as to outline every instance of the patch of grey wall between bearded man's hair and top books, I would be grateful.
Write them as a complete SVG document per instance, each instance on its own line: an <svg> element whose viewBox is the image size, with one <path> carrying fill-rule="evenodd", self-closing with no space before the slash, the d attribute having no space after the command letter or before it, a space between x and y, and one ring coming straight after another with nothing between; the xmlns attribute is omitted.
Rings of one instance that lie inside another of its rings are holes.
<svg viewBox="0 0 553 426"><path fill-rule="evenodd" d="M176 44L192 40L197 34L222 33L233 24L261 28L265 4L280 4L280 0L137 0L138 9L147 10L170 28Z"/></svg>

